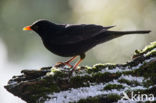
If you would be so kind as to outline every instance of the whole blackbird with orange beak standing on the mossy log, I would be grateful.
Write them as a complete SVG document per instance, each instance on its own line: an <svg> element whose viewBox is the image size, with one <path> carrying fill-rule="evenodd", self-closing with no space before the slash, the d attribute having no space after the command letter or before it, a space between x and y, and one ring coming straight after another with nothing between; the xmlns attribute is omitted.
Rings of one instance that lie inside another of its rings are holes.
<svg viewBox="0 0 156 103"><path fill-rule="evenodd" d="M48 20L38 20L23 30L33 30L42 39L44 46L52 53L63 57L72 57L61 64L70 65L77 56L80 60L74 69L85 58L85 52L94 46L127 34L146 34L150 30L142 31L110 31L114 26L104 27L94 24L55 24Z"/></svg>

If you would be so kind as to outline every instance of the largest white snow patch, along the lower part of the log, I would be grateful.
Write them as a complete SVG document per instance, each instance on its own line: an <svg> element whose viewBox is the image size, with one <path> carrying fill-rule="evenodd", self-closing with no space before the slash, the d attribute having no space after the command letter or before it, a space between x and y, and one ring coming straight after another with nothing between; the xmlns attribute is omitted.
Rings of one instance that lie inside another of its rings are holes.
<svg viewBox="0 0 156 103"><path fill-rule="evenodd" d="M103 90L103 88L108 84L120 84L125 86L125 89L112 89L112 90ZM45 103L69 103L74 101L79 101L80 99L85 99L87 97L94 97L102 94L118 94L121 95L123 91L126 90L136 90L136 89L147 89L143 86L130 87L127 84L119 83L117 80L113 80L106 84L98 84L90 87L81 87L81 88L72 88L71 90L66 90L58 93L49 94L48 96L51 98Z"/></svg>

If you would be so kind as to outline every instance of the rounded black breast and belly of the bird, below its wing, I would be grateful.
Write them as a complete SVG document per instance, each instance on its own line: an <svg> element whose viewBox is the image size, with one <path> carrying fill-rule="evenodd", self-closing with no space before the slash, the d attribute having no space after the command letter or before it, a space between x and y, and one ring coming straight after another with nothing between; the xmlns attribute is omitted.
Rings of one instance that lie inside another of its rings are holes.
<svg viewBox="0 0 156 103"><path fill-rule="evenodd" d="M80 55L95 46L95 43L90 41L81 41L71 44L54 44L43 40L43 44L52 53L64 57Z"/></svg>

